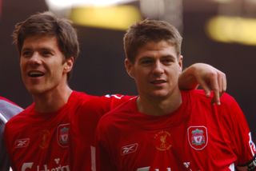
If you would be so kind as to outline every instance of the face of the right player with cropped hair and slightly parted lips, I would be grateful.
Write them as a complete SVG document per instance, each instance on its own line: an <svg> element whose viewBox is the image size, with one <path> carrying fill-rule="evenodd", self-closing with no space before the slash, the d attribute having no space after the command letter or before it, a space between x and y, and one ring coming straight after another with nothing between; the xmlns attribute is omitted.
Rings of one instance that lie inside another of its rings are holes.
<svg viewBox="0 0 256 171"><path fill-rule="evenodd" d="M138 50L134 64L126 60L126 70L134 78L141 97L168 98L178 89L182 56L166 41L148 42Z"/></svg>

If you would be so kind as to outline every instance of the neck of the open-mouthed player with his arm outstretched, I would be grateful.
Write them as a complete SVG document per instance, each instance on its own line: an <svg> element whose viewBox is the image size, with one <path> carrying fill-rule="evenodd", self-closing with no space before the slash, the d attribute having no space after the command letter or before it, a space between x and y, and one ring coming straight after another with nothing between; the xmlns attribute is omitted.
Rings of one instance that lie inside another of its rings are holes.
<svg viewBox="0 0 256 171"><path fill-rule="evenodd" d="M72 89L68 85L63 89L54 89L42 94L34 94L35 110L39 113L51 113L62 108L68 101Z"/></svg>

